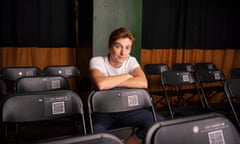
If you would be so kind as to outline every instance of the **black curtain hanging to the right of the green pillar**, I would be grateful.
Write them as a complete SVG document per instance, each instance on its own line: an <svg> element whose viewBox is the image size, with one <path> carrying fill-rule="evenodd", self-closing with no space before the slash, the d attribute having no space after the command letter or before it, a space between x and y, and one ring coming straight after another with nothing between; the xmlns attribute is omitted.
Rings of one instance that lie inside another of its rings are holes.
<svg viewBox="0 0 240 144"><path fill-rule="evenodd" d="M240 48L236 0L143 0L142 47Z"/></svg>

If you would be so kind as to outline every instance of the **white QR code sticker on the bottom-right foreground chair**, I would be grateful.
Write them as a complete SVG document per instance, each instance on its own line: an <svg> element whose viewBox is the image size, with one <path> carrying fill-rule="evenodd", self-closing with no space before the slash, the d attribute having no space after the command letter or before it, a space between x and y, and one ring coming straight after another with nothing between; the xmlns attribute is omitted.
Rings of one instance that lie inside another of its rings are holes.
<svg viewBox="0 0 240 144"><path fill-rule="evenodd" d="M209 132L208 138L209 138L209 144L225 144L222 130Z"/></svg>

